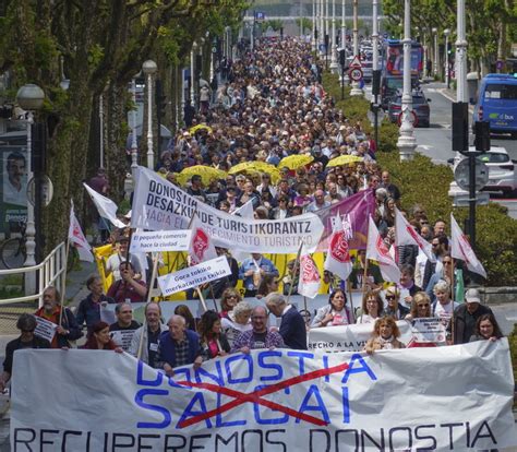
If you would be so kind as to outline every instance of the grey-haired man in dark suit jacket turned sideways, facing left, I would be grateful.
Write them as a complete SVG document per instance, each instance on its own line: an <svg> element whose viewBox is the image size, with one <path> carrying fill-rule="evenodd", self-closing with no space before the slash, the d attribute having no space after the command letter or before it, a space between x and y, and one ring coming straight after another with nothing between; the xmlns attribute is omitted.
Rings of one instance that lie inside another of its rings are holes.
<svg viewBox="0 0 517 452"><path fill-rule="evenodd" d="M281 294L273 293L266 298L267 309L281 318L280 336L285 344L296 350L306 350L305 321L292 305L288 305Z"/></svg>

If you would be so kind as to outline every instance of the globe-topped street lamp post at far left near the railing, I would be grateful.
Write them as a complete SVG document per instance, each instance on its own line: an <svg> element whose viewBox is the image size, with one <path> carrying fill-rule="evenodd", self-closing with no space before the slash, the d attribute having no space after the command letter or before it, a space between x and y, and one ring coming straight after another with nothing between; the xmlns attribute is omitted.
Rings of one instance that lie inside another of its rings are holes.
<svg viewBox="0 0 517 452"><path fill-rule="evenodd" d="M34 178L33 168L33 141L32 127L34 123L33 111L37 111L43 107L45 99L44 91L35 84L27 84L22 86L16 93L16 102L20 107L27 111L27 182ZM35 190L35 197L40 195ZM36 201L36 200L35 200ZM35 212L34 205L27 200L27 224L25 229L25 252L26 258L23 266L36 265L36 227L35 227ZM32 295L36 293L36 274L34 272L25 275L25 294Z"/></svg>

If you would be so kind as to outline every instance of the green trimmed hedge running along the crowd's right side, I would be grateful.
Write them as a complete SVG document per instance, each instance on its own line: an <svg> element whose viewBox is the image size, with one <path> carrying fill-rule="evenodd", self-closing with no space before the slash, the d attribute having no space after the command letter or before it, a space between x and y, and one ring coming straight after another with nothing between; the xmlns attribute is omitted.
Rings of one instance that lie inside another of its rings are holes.
<svg viewBox="0 0 517 452"><path fill-rule="evenodd" d="M325 73L323 85L335 99L340 99L338 76ZM366 118L369 103L362 97L350 97L346 90L345 100L336 105L351 121L360 121L370 131ZM402 193L401 207L408 212L420 204L431 222L443 218L449 224L450 213L460 227L468 217L468 209L454 207L447 192L453 180L448 166L435 165L431 158L417 154L411 162L400 162L397 148L398 127L383 121L380 129L377 162L392 175L392 180ZM507 210L497 203L477 207L476 253L488 273L488 286L517 286L517 221L506 214Z"/></svg>

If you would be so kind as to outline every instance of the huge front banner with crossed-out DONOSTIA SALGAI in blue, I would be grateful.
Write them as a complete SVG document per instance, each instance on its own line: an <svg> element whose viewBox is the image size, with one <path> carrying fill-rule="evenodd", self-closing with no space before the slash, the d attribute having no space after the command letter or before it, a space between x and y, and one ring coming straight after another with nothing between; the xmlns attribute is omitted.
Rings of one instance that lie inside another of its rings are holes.
<svg viewBox="0 0 517 452"><path fill-rule="evenodd" d="M506 338L373 356L252 350L175 371L168 378L128 354L19 350L11 450L466 452L517 445Z"/></svg>

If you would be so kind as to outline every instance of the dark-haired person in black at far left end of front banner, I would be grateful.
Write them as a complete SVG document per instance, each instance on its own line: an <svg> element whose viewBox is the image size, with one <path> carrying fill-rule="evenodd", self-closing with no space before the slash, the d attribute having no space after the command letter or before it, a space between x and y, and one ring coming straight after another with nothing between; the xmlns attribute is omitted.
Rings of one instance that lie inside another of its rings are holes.
<svg viewBox="0 0 517 452"><path fill-rule="evenodd" d="M5 385L12 377L14 352L24 348L51 348L50 342L34 335L36 325L36 318L32 314L23 313L17 319L16 328L22 333L20 334L20 337L11 341L5 346L5 360L3 361L3 373L0 378L0 391L3 392L5 390Z"/></svg>

